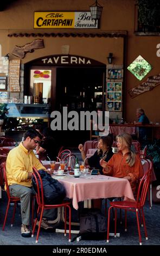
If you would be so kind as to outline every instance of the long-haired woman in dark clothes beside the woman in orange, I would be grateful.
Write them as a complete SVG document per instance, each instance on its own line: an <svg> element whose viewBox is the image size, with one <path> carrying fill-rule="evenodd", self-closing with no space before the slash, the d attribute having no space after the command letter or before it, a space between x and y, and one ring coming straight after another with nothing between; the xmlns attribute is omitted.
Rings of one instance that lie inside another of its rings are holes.
<svg viewBox="0 0 160 256"><path fill-rule="evenodd" d="M82 160L85 159L85 164L89 165L91 168L99 169L100 174L103 174L103 167L100 166L100 159L110 160L113 156L112 152L113 137L112 135L107 135L100 137L98 142L98 150L95 151L94 155L86 159L86 154L84 151L84 146L79 144L79 150L81 151Z"/></svg>

